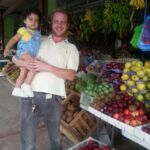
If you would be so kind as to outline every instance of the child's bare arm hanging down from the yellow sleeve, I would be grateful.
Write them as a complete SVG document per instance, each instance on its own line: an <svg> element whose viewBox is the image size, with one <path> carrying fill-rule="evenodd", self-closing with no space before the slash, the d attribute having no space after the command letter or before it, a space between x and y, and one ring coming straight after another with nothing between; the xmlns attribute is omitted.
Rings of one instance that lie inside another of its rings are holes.
<svg viewBox="0 0 150 150"><path fill-rule="evenodd" d="M19 33L16 33L16 35L14 35L7 43L5 49L4 49L4 57L7 56L8 51L10 50L10 48L16 44L21 38L21 35Z"/></svg>

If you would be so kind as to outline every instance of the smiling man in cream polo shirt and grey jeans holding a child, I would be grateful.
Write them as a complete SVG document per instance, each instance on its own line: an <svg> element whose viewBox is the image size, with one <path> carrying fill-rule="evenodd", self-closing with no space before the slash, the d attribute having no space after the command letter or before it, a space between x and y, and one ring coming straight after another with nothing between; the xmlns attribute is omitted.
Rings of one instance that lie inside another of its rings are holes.
<svg viewBox="0 0 150 150"><path fill-rule="evenodd" d="M61 150L61 99L66 97L65 80L74 80L79 65L75 45L66 39L69 15L65 10L52 14L52 34L41 43L38 58L23 62L13 57L20 67L38 72L32 81L34 98L21 101L21 149L35 150L36 129L41 116L48 129L51 150Z"/></svg>

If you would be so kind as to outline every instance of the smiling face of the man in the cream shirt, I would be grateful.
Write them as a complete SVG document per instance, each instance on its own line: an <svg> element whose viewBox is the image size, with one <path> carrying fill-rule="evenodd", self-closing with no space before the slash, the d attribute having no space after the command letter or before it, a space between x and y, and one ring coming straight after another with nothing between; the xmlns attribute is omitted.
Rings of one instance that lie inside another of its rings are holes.
<svg viewBox="0 0 150 150"><path fill-rule="evenodd" d="M56 12L52 20L52 33L54 36L64 37L68 29L68 18L65 14Z"/></svg>

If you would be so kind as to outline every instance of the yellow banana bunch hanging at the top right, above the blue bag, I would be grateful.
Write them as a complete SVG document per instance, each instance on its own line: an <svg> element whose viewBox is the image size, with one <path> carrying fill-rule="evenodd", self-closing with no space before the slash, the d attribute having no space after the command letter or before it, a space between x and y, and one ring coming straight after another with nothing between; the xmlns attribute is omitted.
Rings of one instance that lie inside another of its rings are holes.
<svg viewBox="0 0 150 150"><path fill-rule="evenodd" d="M143 9L145 7L144 0L130 0L130 6L133 6L135 9Z"/></svg>

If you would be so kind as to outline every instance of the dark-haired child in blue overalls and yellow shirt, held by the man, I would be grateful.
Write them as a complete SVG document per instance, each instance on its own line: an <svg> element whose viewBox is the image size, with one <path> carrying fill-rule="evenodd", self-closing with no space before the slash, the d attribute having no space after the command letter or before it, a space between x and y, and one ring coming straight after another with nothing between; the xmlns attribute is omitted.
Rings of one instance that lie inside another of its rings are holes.
<svg viewBox="0 0 150 150"><path fill-rule="evenodd" d="M10 48L18 42L16 56L24 61L30 61L36 56L41 42L41 33L38 30L41 13L37 8L28 8L23 13L22 19L25 26L19 28L17 33L9 40L4 49L4 56L6 57ZM16 80L12 95L33 97L34 93L30 84L35 74L35 72L26 68L20 68L20 75Z"/></svg>

